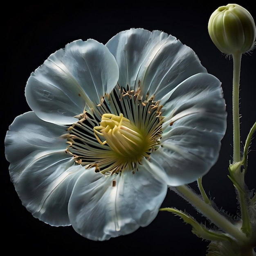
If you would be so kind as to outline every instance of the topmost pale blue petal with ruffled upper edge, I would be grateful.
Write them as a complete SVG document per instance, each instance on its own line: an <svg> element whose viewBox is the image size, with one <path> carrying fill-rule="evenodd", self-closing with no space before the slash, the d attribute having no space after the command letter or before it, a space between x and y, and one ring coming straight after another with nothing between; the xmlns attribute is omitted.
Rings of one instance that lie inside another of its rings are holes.
<svg viewBox="0 0 256 256"><path fill-rule="evenodd" d="M174 36L145 29L122 31L106 46L119 65L119 85L140 88L163 104L173 88L189 76L207 72L195 52Z"/></svg>

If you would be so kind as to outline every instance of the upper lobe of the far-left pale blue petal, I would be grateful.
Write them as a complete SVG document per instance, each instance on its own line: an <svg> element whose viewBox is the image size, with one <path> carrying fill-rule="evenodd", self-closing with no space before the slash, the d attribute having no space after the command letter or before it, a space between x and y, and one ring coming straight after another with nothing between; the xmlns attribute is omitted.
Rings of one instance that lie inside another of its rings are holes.
<svg viewBox="0 0 256 256"><path fill-rule="evenodd" d="M16 181L16 176L38 153L45 150L65 150L67 140L60 136L67 133L66 129L65 126L42 121L34 112L16 117L4 140L5 157L10 162L12 180Z"/></svg>

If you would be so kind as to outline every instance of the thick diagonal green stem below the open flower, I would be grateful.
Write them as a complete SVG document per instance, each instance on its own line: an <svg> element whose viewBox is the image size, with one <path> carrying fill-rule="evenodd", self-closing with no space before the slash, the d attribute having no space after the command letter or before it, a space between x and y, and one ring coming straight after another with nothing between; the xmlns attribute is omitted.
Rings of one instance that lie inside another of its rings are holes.
<svg viewBox="0 0 256 256"><path fill-rule="evenodd" d="M193 204L205 217L211 220L220 229L226 231L229 235L233 236L238 243L247 243L247 238L245 234L236 228L231 222L229 222L225 217L220 215L211 205L205 203L202 199L198 197L188 186L182 185L175 187L182 195L184 199Z"/></svg>

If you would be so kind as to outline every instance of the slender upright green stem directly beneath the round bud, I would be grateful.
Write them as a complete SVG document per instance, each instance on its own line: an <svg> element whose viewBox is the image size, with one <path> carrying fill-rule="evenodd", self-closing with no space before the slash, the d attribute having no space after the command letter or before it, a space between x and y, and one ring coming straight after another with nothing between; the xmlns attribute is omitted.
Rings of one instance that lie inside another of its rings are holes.
<svg viewBox="0 0 256 256"><path fill-rule="evenodd" d="M239 117L239 81L242 54L236 52L233 57L233 162L239 162L240 159L240 117Z"/></svg>

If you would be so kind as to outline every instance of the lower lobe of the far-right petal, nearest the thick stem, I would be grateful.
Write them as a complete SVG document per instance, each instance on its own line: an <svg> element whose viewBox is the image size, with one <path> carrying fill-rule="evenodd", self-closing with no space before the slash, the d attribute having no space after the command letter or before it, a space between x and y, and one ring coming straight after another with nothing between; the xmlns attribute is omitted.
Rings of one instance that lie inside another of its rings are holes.
<svg viewBox="0 0 256 256"><path fill-rule="evenodd" d="M150 161L161 163L169 186L194 182L205 175L218 159L220 141L210 132L179 127L169 133ZM154 159L154 161L153 161Z"/></svg>

